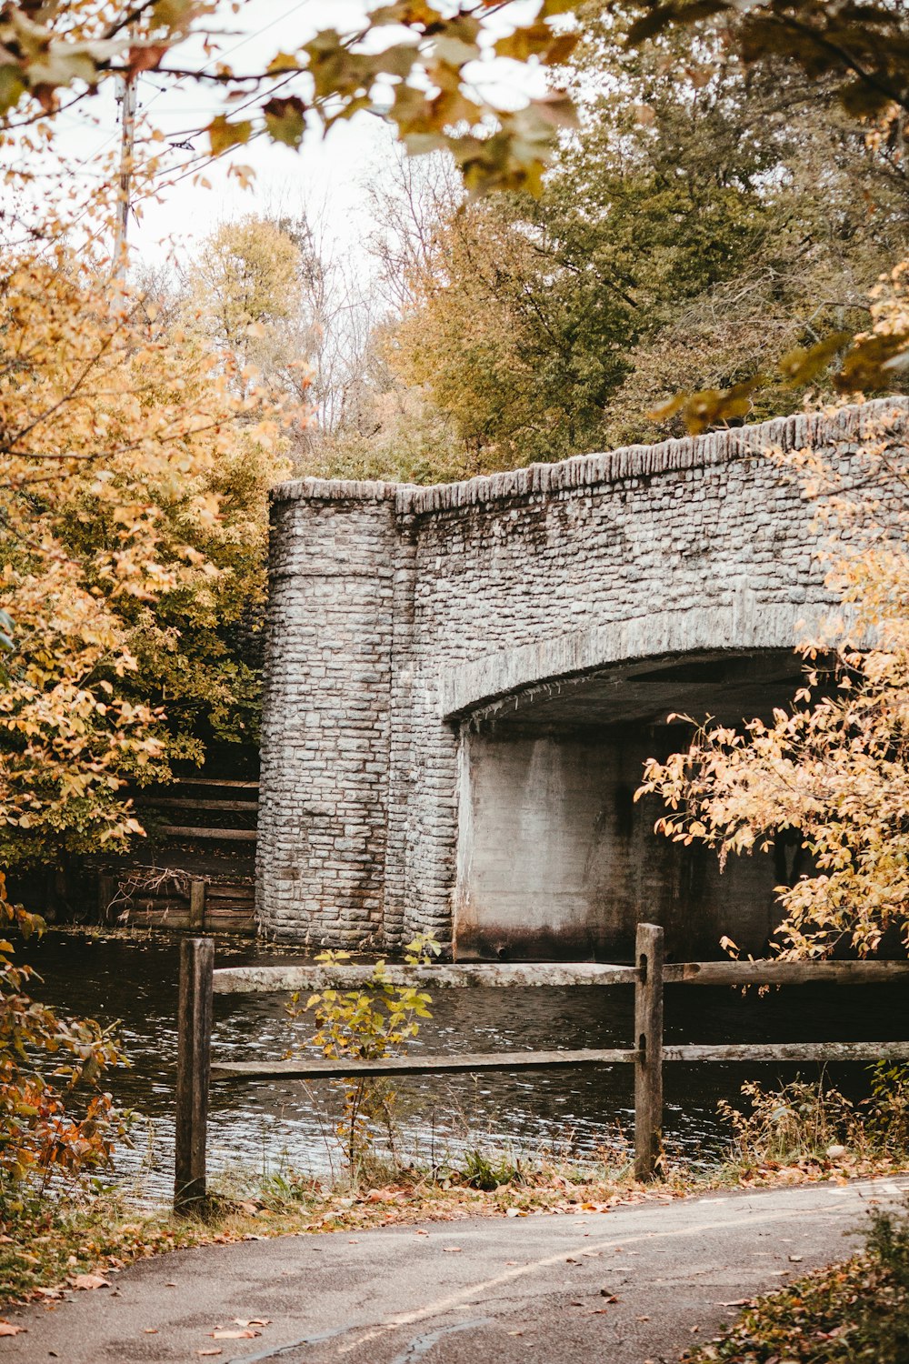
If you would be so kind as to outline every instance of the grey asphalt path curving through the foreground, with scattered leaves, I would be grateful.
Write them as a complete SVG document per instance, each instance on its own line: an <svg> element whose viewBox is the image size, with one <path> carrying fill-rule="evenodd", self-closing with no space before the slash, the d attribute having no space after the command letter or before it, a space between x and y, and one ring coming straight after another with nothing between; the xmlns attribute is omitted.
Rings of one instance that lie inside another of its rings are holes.
<svg viewBox="0 0 909 1364"><path fill-rule="evenodd" d="M908 1189L906 1178L815 1184L179 1251L110 1275L110 1289L7 1314L27 1333L0 1353L16 1364L675 1361L740 1299L845 1256L865 1210Z"/></svg>

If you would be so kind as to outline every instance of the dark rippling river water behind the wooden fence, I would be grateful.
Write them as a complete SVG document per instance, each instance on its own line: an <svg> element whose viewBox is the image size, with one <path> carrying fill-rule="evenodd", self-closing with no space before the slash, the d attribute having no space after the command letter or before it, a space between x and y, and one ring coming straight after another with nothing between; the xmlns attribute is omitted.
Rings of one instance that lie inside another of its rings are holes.
<svg viewBox="0 0 909 1364"><path fill-rule="evenodd" d="M44 977L35 993L102 1023L120 1020L132 1061L110 1087L140 1114L136 1150L120 1162L120 1177L146 1195L165 1195L173 1162L173 1088L179 944L49 934L23 956ZM217 949L215 964L277 962L260 945ZM213 1054L222 1061L282 1056L289 1024L282 996L215 996ZM887 986L792 986L760 997L726 988L669 986L666 1042L895 1041L909 1037L909 990ZM508 989L439 990L433 1018L414 1050L495 1052L630 1046L632 990ZM305 1038L304 1034L298 1034ZM665 1068L665 1136L690 1159L709 1161L728 1140L717 1101L735 1099L743 1080L775 1083L818 1075L818 1067L673 1064ZM867 1090L864 1065L830 1067L848 1093ZM472 1144L508 1143L531 1151L570 1143L591 1151L616 1123L632 1131L632 1067L566 1068L518 1076L402 1078L402 1139L422 1159L440 1158L472 1133ZM209 1128L210 1168L271 1170L289 1162L316 1173L337 1161L331 1125L335 1088L318 1082L214 1084Z"/></svg>

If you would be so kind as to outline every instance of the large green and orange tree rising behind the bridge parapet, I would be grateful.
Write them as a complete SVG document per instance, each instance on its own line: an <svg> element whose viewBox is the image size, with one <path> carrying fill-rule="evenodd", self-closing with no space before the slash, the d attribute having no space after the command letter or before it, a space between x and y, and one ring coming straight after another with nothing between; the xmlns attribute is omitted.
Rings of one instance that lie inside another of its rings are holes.
<svg viewBox="0 0 909 1364"><path fill-rule="evenodd" d="M653 412L680 387L735 390L726 421L793 411L807 382L830 390L844 333L906 250L905 166L830 91L748 72L715 40L639 52L590 19L575 85L582 130L540 199L416 205L384 353L474 468L677 434L680 404ZM819 341L827 364L797 372ZM796 372L751 382L785 352ZM694 404L684 416L698 424Z"/></svg>

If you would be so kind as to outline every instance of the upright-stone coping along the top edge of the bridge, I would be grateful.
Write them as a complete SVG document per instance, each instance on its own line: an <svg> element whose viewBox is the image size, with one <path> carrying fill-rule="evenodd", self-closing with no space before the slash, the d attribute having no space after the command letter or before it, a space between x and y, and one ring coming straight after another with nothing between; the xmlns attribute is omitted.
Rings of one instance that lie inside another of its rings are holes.
<svg viewBox="0 0 909 1364"><path fill-rule="evenodd" d="M581 454L557 464L530 464L507 473L480 475L461 483L379 483L357 479L292 479L271 490L279 502L392 502L397 516L422 516L432 512L484 505L533 494L559 492L567 488L598 487L623 479L653 477L684 469L728 464L767 450L799 450L801 446L823 447L834 442L859 441L880 416L905 419L909 398L876 398L872 402L839 408L834 412L796 413L774 417L758 426L711 431L709 435L661 441L658 445L630 445L606 454Z"/></svg>

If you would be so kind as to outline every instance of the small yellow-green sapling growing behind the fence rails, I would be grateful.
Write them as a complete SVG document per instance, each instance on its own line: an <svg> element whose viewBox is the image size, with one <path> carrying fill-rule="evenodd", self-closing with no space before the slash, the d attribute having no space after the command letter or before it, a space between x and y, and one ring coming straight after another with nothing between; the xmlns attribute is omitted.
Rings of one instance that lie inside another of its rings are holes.
<svg viewBox="0 0 909 1364"><path fill-rule="evenodd" d="M428 966L439 956L442 947L431 933L418 933L405 948L409 966ZM350 960L349 952L322 952L324 966L339 966ZM372 981L367 989L324 989L311 994L305 1004L294 994L288 1005L292 1022L315 1011L316 1031L309 1046L318 1046L323 1056L333 1058L382 1060L399 1054L402 1046L417 1037L429 1012L431 996L407 985L392 985L384 959L375 963ZM384 1079L360 1076L345 1083L343 1116L337 1127L338 1140L356 1181L358 1173L375 1161L375 1140L382 1129L395 1158L395 1093Z"/></svg>

